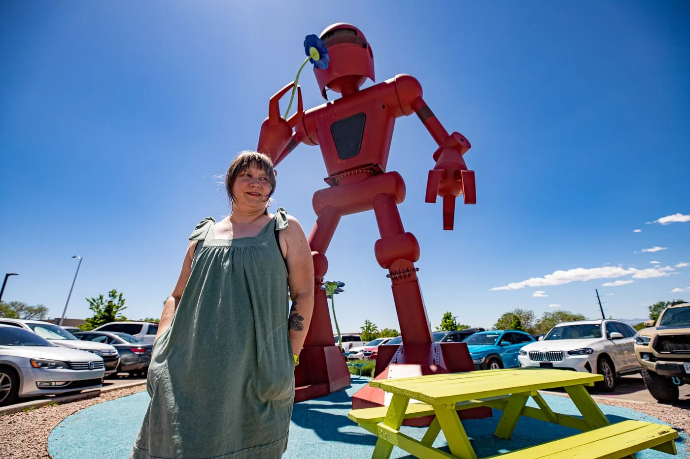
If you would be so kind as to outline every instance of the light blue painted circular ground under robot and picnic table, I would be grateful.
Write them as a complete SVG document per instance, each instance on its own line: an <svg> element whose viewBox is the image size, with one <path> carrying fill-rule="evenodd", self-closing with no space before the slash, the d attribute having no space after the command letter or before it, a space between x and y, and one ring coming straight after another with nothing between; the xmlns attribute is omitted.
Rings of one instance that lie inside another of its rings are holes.
<svg viewBox="0 0 690 459"><path fill-rule="evenodd" d="M357 427L348 420L352 394L367 380L354 379L352 387L317 400L297 403L293 410L290 426L290 442L284 459L368 459L371 458L376 439L371 433ZM577 415L578 411L569 398L544 395L553 411ZM48 452L54 459L126 459L130 447L148 406L146 391L138 394L93 405L61 422L50 433ZM531 401L531 400L530 400ZM535 406L531 404L532 406ZM667 424L651 416L622 407L600 405L611 422L627 419L647 420ZM468 435L480 458L512 451L529 445L563 438L578 431L549 424L539 420L522 418L517 424L513 440L502 440L493 436L501 411L494 411L494 417L482 420L464 420ZM402 427L408 436L422 439L424 429ZM685 434L680 432L682 438ZM638 459L670 459L688 457L682 438L676 440L678 456L647 449L637 454ZM435 447L444 447L446 440L440 433ZM445 451L450 452L447 447ZM391 458L411 459L405 451L393 449Z"/></svg>

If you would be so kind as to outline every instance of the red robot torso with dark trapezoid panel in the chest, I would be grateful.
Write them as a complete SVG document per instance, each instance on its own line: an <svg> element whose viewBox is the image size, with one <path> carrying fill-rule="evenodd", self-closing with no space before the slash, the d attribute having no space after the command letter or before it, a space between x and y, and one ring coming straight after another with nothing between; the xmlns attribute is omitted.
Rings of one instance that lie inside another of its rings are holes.
<svg viewBox="0 0 690 459"><path fill-rule="evenodd" d="M317 118L317 132L328 172L382 163L388 156L394 123L386 105L379 102L327 105Z"/></svg>

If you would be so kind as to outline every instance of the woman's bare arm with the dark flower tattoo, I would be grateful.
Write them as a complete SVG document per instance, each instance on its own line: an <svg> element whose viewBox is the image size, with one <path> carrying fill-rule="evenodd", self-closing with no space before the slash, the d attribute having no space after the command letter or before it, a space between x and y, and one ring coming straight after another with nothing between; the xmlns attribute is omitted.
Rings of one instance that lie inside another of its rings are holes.
<svg viewBox="0 0 690 459"><path fill-rule="evenodd" d="M309 243L297 218L288 215L288 227L280 233L285 233L285 259L292 300L288 319L290 344L293 354L299 356L314 310L314 265Z"/></svg>

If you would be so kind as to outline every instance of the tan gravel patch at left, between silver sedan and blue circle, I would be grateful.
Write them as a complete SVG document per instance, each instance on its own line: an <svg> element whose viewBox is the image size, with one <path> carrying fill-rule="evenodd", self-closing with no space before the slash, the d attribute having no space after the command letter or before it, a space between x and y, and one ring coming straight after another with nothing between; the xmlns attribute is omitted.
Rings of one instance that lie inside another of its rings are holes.
<svg viewBox="0 0 690 459"><path fill-rule="evenodd" d="M144 385L127 387L87 400L0 416L0 459L49 459L48 435L61 420L80 409L143 390Z"/></svg>

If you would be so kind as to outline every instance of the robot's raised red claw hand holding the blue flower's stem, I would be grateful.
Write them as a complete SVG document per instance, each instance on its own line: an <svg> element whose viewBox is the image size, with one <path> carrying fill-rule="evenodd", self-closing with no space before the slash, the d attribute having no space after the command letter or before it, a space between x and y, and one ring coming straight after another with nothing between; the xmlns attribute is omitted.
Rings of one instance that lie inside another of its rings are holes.
<svg viewBox="0 0 690 459"><path fill-rule="evenodd" d="M268 117L264 119L259 131L259 144L257 145L257 152L267 154L273 161L273 165L277 165L285 156L288 155L299 144L301 136L295 132L293 128L302 121L304 116L304 108L302 107L302 88L297 85L297 112L284 119L280 115L280 107L278 101L282 96L295 86L295 82L286 85L282 90L279 90L268 101Z"/></svg>

